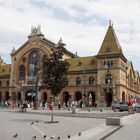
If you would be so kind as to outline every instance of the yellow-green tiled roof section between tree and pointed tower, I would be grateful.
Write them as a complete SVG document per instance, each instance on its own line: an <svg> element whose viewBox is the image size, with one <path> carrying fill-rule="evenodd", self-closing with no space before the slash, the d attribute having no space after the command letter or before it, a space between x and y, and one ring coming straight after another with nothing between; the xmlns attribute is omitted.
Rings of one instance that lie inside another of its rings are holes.
<svg viewBox="0 0 140 140"><path fill-rule="evenodd" d="M96 58L89 57L77 57L67 60L70 63L69 71L82 71L82 70L95 70Z"/></svg>

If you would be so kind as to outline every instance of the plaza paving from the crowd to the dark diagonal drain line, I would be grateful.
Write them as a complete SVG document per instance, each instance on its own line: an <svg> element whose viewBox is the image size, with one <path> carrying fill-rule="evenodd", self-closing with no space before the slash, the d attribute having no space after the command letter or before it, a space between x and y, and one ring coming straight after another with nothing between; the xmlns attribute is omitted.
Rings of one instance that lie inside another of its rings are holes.
<svg viewBox="0 0 140 140"><path fill-rule="evenodd" d="M116 130L119 126L106 126L106 117L122 117L127 116L128 112L113 112L111 110L77 110L75 114L68 110L54 110L55 121L59 123L49 124L51 120L51 111L49 110L27 110L27 112L19 112L19 109L4 109L0 111L0 122L6 126L0 128L0 139L12 139L12 134L18 132L18 140L31 139L36 135L36 139L43 139L43 135L47 135L46 139L57 140L60 136L61 140L100 140L108 133ZM37 122L36 122L37 121ZM31 125L33 122L33 125ZM8 128L8 132L7 129ZM9 133L12 132L12 133ZM81 136L79 136L81 132ZM8 133L8 135L7 135Z"/></svg>

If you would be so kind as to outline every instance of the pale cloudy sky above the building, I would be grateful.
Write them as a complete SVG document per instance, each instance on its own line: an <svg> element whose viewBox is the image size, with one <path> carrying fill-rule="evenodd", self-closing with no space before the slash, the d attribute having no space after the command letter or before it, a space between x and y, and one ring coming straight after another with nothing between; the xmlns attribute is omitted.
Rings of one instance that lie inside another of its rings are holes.
<svg viewBox="0 0 140 140"><path fill-rule="evenodd" d="M139 0L0 0L0 55L11 63L13 46L18 49L32 26L41 25L46 38L79 56L96 55L109 20L126 58L140 71Z"/></svg>

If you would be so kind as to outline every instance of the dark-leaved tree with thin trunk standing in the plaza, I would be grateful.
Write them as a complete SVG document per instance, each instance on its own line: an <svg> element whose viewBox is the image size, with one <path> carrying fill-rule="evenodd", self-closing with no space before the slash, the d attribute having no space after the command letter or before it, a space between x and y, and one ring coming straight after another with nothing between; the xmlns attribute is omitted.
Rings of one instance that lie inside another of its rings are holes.
<svg viewBox="0 0 140 140"><path fill-rule="evenodd" d="M67 71L69 63L62 59L63 46L57 47L57 50L52 53L49 59L45 59L45 79L47 89L51 90L53 95L53 101L61 90L67 85ZM52 120L53 122L53 109L52 109Z"/></svg>

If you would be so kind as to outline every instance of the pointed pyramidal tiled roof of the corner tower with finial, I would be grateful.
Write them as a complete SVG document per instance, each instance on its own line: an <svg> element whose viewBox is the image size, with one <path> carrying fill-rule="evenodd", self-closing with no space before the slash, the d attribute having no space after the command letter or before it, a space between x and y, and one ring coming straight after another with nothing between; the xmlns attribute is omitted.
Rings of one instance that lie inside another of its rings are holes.
<svg viewBox="0 0 140 140"><path fill-rule="evenodd" d="M121 46L113 29L113 23L109 21L109 27L98 55L122 53Z"/></svg>

